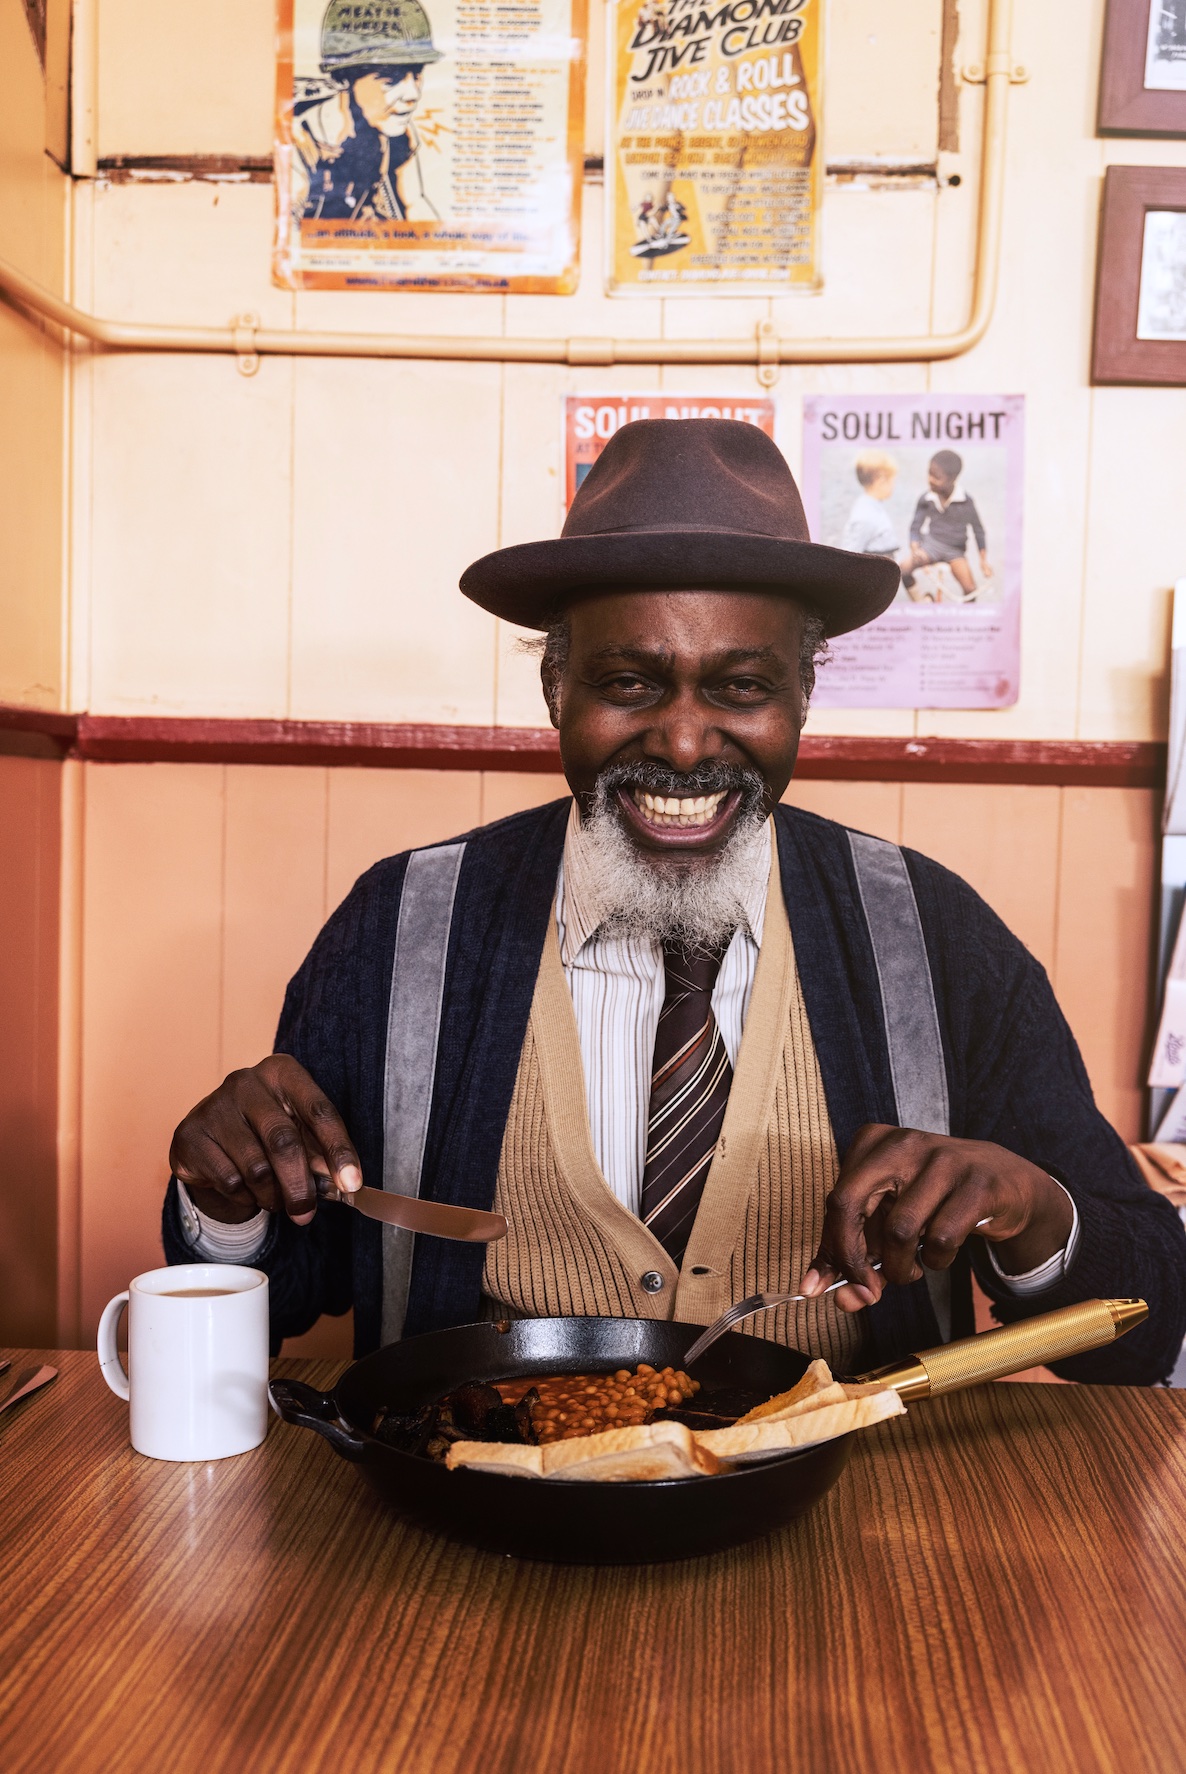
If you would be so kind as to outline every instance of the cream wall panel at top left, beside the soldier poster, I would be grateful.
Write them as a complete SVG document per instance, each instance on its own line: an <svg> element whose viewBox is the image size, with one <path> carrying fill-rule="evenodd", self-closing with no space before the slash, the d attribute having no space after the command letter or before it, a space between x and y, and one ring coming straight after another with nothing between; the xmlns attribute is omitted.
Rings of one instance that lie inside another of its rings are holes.
<svg viewBox="0 0 1186 1774"><path fill-rule="evenodd" d="M271 153L268 0L96 7L99 156Z"/></svg>

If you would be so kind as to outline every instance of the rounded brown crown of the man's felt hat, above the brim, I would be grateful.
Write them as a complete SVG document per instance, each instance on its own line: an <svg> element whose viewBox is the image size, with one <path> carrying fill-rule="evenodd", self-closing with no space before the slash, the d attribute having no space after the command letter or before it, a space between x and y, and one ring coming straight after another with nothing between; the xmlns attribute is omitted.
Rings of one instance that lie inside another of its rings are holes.
<svg viewBox="0 0 1186 1774"><path fill-rule="evenodd" d="M562 536L716 530L810 541L778 445L743 419L635 419L576 491Z"/></svg>

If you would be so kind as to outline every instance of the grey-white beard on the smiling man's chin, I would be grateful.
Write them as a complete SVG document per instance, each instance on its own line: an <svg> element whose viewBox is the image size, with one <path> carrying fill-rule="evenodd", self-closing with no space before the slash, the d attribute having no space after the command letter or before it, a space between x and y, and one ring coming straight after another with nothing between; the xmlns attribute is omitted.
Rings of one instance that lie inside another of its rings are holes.
<svg viewBox="0 0 1186 1774"><path fill-rule="evenodd" d="M675 940L686 949L723 949L745 921L755 878L766 880L766 814L741 812L722 850L700 862L667 862L638 850L619 811L597 784L594 809L581 823L581 850L608 908L601 930L613 937Z"/></svg>

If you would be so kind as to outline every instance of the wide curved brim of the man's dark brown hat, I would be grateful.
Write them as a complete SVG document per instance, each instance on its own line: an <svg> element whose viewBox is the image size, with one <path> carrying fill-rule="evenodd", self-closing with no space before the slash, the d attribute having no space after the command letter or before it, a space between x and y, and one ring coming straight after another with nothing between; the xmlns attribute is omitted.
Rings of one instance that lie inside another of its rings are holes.
<svg viewBox="0 0 1186 1774"><path fill-rule="evenodd" d="M461 591L516 628L548 628L578 598L608 591L773 591L807 603L828 637L863 628L897 596L888 555L732 530L558 536L482 555Z"/></svg>

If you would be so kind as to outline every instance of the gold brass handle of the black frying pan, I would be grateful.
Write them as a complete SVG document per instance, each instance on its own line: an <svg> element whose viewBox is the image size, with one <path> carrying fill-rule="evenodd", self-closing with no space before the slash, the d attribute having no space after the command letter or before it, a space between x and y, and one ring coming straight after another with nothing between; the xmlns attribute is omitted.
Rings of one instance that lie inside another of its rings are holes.
<svg viewBox="0 0 1186 1774"><path fill-rule="evenodd" d="M938 1398L984 1380L1025 1373L1026 1368L1044 1368L1067 1355L1083 1355L1088 1348L1103 1348L1147 1316L1143 1300L1083 1300L959 1343L924 1348L862 1378L881 1380L901 1398Z"/></svg>

